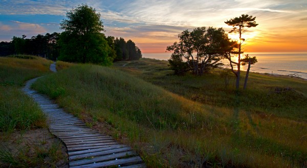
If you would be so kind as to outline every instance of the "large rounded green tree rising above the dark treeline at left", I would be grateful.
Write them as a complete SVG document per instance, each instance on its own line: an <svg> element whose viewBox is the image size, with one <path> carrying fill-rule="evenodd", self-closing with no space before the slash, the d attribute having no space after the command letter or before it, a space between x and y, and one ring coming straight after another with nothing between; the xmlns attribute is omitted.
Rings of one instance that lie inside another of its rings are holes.
<svg viewBox="0 0 307 168"><path fill-rule="evenodd" d="M60 36L59 60L81 63L112 64L111 48L102 31L100 14L87 5L79 5L67 12L60 23L64 30ZM111 57L109 57L111 56Z"/></svg>

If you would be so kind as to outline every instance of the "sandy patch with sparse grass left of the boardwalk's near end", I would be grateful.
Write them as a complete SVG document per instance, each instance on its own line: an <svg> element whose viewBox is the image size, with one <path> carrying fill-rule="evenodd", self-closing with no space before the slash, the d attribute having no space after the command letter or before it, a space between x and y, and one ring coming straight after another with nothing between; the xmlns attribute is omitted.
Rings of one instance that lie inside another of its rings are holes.
<svg viewBox="0 0 307 168"><path fill-rule="evenodd" d="M66 147L46 128L14 131L10 134L0 132L0 148L10 151L14 158L20 156L22 151L27 157L26 162L29 162L28 165L24 163L26 167L69 167ZM57 149L53 155L50 154L52 149ZM38 159L39 156L41 159ZM34 165L31 161L35 162ZM10 164L0 160L0 167L8 166Z"/></svg>

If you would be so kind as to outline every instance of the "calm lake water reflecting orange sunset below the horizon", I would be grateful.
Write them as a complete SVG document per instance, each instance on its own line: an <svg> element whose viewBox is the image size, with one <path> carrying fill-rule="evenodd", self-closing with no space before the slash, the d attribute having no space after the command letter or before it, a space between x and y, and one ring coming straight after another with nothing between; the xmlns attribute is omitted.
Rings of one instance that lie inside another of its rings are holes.
<svg viewBox="0 0 307 168"><path fill-rule="evenodd" d="M307 53L293 52L246 52L256 57L258 62L252 65L251 72L292 75L307 79ZM143 58L168 60L171 53L143 53ZM224 61L223 61L224 62ZM245 70L247 66L243 66Z"/></svg>

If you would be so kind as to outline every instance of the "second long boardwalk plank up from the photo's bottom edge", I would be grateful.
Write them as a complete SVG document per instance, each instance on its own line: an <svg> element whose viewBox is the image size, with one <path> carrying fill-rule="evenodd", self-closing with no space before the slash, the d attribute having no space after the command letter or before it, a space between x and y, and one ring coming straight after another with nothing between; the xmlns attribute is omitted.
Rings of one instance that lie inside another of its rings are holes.
<svg viewBox="0 0 307 168"><path fill-rule="evenodd" d="M133 151L127 151L127 152L121 152L117 154L111 154L111 155L105 155L105 156L99 156L95 157L92 159L82 159L82 160L76 160L76 161L70 161L69 166L76 166L76 165L82 165L82 164L90 164L94 162L102 162L106 160L111 160L111 159L117 159L125 156L130 156L130 155L136 155L136 152Z"/></svg>

